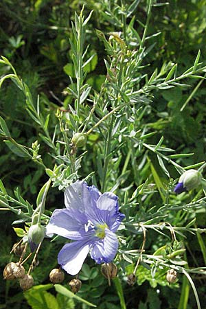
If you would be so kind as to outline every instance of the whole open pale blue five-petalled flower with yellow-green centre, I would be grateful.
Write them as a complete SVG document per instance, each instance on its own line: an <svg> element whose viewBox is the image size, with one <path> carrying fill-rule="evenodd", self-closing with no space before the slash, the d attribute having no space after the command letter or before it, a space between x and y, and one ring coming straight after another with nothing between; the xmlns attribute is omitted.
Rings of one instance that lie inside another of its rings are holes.
<svg viewBox="0 0 206 309"><path fill-rule="evenodd" d="M98 264L115 258L118 240L115 235L124 214L119 213L117 196L101 194L95 186L76 181L65 191L66 209L56 209L47 225L47 236L53 233L75 240L58 253L58 263L70 275L76 275L90 252Z"/></svg>

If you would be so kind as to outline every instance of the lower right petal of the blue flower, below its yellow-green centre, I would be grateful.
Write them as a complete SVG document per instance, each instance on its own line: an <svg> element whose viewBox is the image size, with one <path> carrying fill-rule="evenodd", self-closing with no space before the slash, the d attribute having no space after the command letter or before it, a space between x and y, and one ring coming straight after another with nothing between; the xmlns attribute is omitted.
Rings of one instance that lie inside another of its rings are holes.
<svg viewBox="0 0 206 309"><path fill-rule="evenodd" d="M109 229L105 229L105 238L95 242L90 253L91 258L98 264L109 263L115 258L117 249L117 236Z"/></svg>

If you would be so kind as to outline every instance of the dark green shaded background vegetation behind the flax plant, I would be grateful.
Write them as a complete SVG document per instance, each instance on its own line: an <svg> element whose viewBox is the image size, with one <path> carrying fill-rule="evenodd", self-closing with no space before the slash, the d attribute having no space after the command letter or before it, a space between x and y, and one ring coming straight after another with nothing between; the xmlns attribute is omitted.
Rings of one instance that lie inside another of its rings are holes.
<svg viewBox="0 0 206 309"><path fill-rule="evenodd" d="M105 14L110 2L112 3L111 10L115 12L115 5L120 5L121 1L1 0L1 55L10 60L19 76L30 87L34 101L36 101L38 93L41 94L41 110L45 117L48 113L50 114L49 130L51 131L56 126L56 110L59 109L66 113L68 104L73 103L66 88L70 83L69 76L73 77L74 74L69 45L69 38L73 38L71 21L74 21L74 12L76 11L79 14L82 5L85 5L85 16L93 10L91 20L87 24L86 44L90 44L89 51L91 54L95 53L96 56L86 69L87 83L96 91L100 91L101 84L106 76L104 58L107 56L104 44L98 38L95 30L101 30L105 35L108 32L122 31L118 22L112 23L109 16ZM133 1L128 2L132 3ZM157 2L161 3L163 1ZM134 27L139 36L142 36L143 27L141 23L146 23L146 1L139 1L134 14ZM171 0L168 1L168 5L154 6L148 27L148 35L161 33L153 36L148 43L148 47L152 46L152 50L144 58L145 67L142 69L144 70L143 73L150 76L155 68L161 69L163 62L170 61L178 63L179 73L182 73L194 64L199 49L201 50L201 62L205 64L205 16L205 0ZM130 22L130 19L128 19L128 22ZM120 14L119 23L121 23ZM149 63L150 65L148 65ZM8 73L8 68L0 66L0 75L6 73ZM190 80L190 85L191 87L185 88L176 87L175 89L155 90L153 98L150 98L151 102L145 115L148 132L152 130L156 132L150 138L150 144L157 144L161 136L163 136L164 146L175 149L176 153L194 152L191 157L179 159L178 163L183 166L205 161L205 81L194 78ZM197 86L198 89L194 93L193 91ZM184 104L185 107L181 111ZM41 139L41 130L34 122L31 122L25 111L23 93L10 80L5 81L0 90L0 115L8 124L12 137L19 144L30 147L36 141L36 137ZM99 147L101 147L101 144L100 146L98 144L98 135L91 135L87 165L84 165L84 169L81 171L82 177L87 176L92 170L98 170L96 158ZM47 181L44 170L42 168L36 169L36 164L30 160L16 157L5 146L3 139L0 143L0 151L0 177L8 192L12 194L16 187L21 187L21 195L30 203L35 203L38 191ZM123 159L126 158L126 151L127 148L123 149ZM40 152L47 167L52 168L52 157L48 154L49 147L43 144ZM157 158L155 158L155 155L150 155L149 159L155 166L159 178L164 182L165 175L159 167ZM132 165L132 163L129 163L129 165ZM132 179L137 176L134 173L130 174ZM150 171L148 168L144 168L138 173L139 183L141 183L146 180ZM179 176L173 168L171 168L170 173L173 179ZM115 176L114 179L111 179L111 182L115 183ZM126 181L125 187L129 184ZM151 196L150 199L151 202L154 201L157 199L157 195ZM189 203L189 201L190 198L186 196L185 203ZM150 201L147 201L147 203L150 203ZM180 202L177 200L176 203ZM47 207L53 210L56 207L62 207L62 205L62 193L55 187L49 194ZM187 218L183 214L171 216L174 216L171 220L176 226L185 225ZM12 258L15 260L10 255L12 245L17 240L16 233L11 227L14 220L16 220L14 214L9 211L1 211L1 270ZM196 214L196 225L204 227L205 211ZM204 236L203 240L205 240ZM45 241L43 250L41 250L38 257L40 263L34 271L35 284L49 284L49 271L56 266L55 257L63 243L63 239L62 243L58 244ZM137 242L137 247L139 247L139 244L141 244L140 240ZM157 237L152 231L148 233L146 244L148 251L157 250L163 244L161 236ZM203 248L201 250L200 241L198 242L196 236L187 235L185 247L187 248L187 261L191 267L205 266ZM100 274L100 268L94 266L93 261L89 258L86 262L87 264L83 266L80 275L82 290L78 295L97 304L98 308L120 308L119 297L116 292L118 290L118 280L109 287L106 279ZM183 282L183 276L171 288L165 282L165 277L159 274L159 277L152 278L150 271L147 271L142 266L139 266L137 284L133 287L126 284L124 276L120 274L119 277L123 282L124 298L128 309L175 309L179 308L181 297L183 299L185 297L185 307L179 309L196 308L192 292L187 301L189 286L187 282ZM65 284L69 279L71 277L67 275ZM206 304L204 304L205 279L199 278L198 275L194 275L192 279L202 301L202 307L206 308ZM39 302L35 303L35 290L30 292L34 294L33 298L30 293L25 293L24 297L15 282L3 281L1 272L0 308L87 308L86 305L80 303L76 303L78 305L74 307L73 300L68 300L63 295L58 294L58 297L55 297L56 294L53 288L46 292L50 288L51 286L46 286L42 290L38 290L38 295L48 299L47 307L45 307L45 303L41 302L41 298L38 299Z"/></svg>

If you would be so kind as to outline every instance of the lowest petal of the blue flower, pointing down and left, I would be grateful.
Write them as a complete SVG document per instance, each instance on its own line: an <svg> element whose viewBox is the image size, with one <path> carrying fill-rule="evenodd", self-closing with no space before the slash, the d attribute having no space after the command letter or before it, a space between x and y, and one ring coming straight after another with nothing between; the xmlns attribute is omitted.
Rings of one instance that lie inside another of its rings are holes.
<svg viewBox="0 0 206 309"><path fill-rule="evenodd" d="M91 244L83 241L65 244L58 253L58 264L70 275L76 275L87 258Z"/></svg>

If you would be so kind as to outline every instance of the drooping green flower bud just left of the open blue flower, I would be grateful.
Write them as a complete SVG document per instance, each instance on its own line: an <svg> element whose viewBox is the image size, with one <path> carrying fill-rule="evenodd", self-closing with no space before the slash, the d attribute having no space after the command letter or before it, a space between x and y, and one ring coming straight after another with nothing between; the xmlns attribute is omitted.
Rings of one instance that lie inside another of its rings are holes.
<svg viewBox="0 0 206 309"><path fill-rule="evenodd" d="M30 248L33 252L40 242L43 241L45 237L45 227L42 227L39 224L32 225L28 231L28 239L30 242Z"/></svg>

